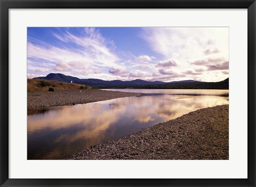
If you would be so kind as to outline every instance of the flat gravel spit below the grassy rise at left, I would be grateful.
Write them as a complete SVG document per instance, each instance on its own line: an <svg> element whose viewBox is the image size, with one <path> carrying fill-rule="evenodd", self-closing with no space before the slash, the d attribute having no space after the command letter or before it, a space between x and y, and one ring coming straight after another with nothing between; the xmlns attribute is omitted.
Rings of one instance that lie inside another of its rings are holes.
<svg viewBox="0 0 256 187"><path fill-rule="evenodd" d="M120 97L139 96L138 93L114 92L105 90L68 90L28 92L27 107L41 108L116 99Z"/></svg>

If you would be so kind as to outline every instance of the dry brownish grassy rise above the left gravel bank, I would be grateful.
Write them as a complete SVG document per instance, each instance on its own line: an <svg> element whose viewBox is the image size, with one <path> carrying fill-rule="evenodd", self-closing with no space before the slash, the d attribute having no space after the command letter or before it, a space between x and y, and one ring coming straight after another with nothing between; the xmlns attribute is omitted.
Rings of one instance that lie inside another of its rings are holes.
<svg viewBox="0 0 256 187"><path fill-rule="evenodd" d="M54 88L54 91L92 89L92 87L90 86L85 86L85 85L75 84L75 83L64 83L56 80L27 79L28 92L48 91L50 87Z"/></svg>

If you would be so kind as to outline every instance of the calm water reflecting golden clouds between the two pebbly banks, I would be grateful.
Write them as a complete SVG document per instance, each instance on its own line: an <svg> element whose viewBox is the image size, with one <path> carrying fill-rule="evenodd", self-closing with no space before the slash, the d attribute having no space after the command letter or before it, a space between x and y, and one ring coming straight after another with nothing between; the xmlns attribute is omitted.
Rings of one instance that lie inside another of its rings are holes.
<svg viewBox="0 0 256 187"><path fill-rule="evenodd" d="M228 90L118 91L143 94L29 110L28 159L61 159L91 145L119 139L190 111L229 103Z"/></svg>

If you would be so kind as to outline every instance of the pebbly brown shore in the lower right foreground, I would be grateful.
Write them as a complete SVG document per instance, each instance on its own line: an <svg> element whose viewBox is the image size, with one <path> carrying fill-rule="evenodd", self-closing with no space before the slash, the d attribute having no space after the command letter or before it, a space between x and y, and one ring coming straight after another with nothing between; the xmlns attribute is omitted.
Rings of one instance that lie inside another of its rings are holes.
<svg viewBox="0 0 256 187"><path fill-rule="evenodd" d="M205 108L66 159L227 160L229 105Z"/></svg>

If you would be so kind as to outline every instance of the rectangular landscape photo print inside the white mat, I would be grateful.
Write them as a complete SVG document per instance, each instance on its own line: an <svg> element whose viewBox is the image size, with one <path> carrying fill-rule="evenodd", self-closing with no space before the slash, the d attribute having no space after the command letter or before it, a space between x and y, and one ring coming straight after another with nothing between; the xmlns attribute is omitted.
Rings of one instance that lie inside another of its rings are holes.
<svg viewBox="0 0 256 187"><path fill-rule="evenodd" d="M28 27L28 160L228 160L228 27Z"/></svg>

